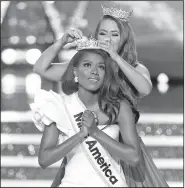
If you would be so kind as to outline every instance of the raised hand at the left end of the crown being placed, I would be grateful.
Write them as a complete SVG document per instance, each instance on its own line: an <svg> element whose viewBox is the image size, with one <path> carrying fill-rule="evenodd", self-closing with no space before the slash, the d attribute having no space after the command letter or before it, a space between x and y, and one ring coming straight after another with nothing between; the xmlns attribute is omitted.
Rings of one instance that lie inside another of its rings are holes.
<svg viewBox="0 0 185 188"><path fill-rule="evenodd" d="M83 37L83 33L81 30L76 28L70 28L68 31L64 33L62 36L62 41L65 44L72 43L77 39L81 39Z"/></svg>

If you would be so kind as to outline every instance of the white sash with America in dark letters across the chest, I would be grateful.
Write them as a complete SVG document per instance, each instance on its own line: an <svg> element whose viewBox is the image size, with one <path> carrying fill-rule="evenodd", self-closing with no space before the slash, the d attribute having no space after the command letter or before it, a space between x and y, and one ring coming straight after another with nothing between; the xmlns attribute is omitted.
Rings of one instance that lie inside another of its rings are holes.
<svg viewBox="0 0 185 188"><path fill-rule="evenodd" d="M78 98L77 93L61 96L61 98L73 131L77 133L80 131L81 118L86 107ZM80 147L107 187L128 187L114 159L94 138L88 137Z"/></svg>

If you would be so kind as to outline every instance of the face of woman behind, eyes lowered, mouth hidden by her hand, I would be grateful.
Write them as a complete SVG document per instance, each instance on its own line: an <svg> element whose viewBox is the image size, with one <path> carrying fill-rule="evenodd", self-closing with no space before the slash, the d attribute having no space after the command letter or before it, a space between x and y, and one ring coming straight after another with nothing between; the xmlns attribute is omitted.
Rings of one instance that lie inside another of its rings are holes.
<svg viewBox="0 0 185 188"><path fill-rule="evenodd" d="M117 23L111 19L103 20L99 27L97 39L100 41L111 40L117 51L121 40L121 34Z"/></svg>

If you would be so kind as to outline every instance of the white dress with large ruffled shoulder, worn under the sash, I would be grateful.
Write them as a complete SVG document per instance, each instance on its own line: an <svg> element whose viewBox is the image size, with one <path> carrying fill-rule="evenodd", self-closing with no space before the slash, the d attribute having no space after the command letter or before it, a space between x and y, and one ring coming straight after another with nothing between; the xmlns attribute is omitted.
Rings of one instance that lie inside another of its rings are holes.
<svg viewBox="0 0 185 188"><path fill-rule="evenodd" d="M56 122L57 128L61 131L58 144L64 142L74 134L71 127L69 125L66 126L66 124L62 122L62 118L59 119L57 117L61 115L59 114L58 108L58 106L62 105L59 104L59 97L60 95L52 91L47 92L41 90L36 94L34 103L30 104L30 108L33 112L33 122L40 131L44 130L45 125L47 126L53 121ZM98 128L102 129L105 126L106 125L99 125ZM119 126L116 124L110 125L102 131L115 140L119 139ZM121 176L124 177L119 159L114 156L112 156L112 158L116 161L116 165L117 168L120 169ZM121 186L127 187L126 183ZM65 175L59 187L107 187L107 184L105 184L102 178L98 175L84 154L80 144L78 144L68 154Z"/></svg>

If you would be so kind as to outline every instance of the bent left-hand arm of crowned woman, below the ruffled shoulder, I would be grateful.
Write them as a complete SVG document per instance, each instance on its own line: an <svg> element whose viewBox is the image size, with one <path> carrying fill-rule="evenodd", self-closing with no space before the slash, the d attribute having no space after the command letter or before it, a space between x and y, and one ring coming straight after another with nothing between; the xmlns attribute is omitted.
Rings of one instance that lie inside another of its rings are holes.
<svg viewBox="0 0 185 188"><path fill-rule="evenodd" d="M39 165L42 168L47 168L65 157L69 151L84 140L84 137L87 135L84 130L84 128L81 129L80 132L57 145L60 131L55 123L45 126L39 150Z"/></svg>

